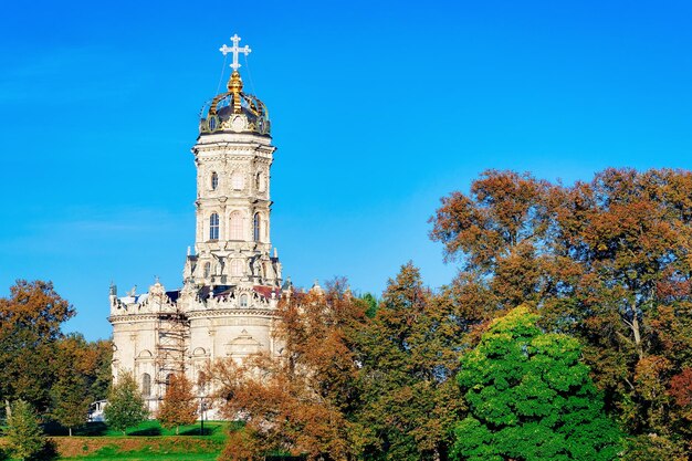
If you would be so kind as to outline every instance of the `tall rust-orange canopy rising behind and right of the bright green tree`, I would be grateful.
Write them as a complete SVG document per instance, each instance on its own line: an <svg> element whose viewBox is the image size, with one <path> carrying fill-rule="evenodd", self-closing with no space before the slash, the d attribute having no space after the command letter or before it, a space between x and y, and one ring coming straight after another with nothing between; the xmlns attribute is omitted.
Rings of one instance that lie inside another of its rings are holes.
<svg viewBox="0 0 692 461"><path fill-rule="evenodd" d="M532 303L542 326L581 342L630 433L675 443L689 410L667 389L692 367L691 191L684 170L609 168L572 186L486 171L431 219L461 269L445 296L470 333Z"/></svg>

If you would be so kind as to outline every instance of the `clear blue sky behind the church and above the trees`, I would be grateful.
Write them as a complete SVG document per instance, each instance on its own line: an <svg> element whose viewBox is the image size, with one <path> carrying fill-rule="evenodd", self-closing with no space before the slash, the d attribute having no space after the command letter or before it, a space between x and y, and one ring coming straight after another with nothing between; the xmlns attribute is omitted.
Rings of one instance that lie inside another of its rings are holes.
<svg viewBox="0 0 692 461"><path fill-rule="evenodd" d="M452 279L427 221L484 169L692 168L691 20L664 0L7 2L0 293L52 280L95 339L111 281L180 285L190 147L233 33L279 147L284 274L379 295L408 260Z"/></svg>

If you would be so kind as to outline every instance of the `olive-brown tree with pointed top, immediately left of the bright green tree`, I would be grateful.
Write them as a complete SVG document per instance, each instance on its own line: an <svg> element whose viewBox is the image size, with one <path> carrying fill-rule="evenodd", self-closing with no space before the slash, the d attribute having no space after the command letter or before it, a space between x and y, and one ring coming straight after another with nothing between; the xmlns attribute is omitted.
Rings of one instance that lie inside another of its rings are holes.
<svg viewBox="0 0 692 461"><path fill-rule="evenodd" d="M447 457L463 408L453 379L463 335L453 307L423 285L409 262L359 329L360 402L352 419L363 429L357 441L367 458Z"/></svg>

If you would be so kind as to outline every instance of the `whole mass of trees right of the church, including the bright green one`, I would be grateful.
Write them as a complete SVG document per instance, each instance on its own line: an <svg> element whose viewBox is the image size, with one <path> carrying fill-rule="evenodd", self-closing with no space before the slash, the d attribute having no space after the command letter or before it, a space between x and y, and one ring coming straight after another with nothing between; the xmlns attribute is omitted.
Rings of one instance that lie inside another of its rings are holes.
<svg viewBox="0 0 692 461"><path fill-rule="evenodd" d="M245 425L223 459L689 459L689 171L491 170L431 223L450 284L409 263L378 302L296 293L280 358L213 365Z"/></svg>

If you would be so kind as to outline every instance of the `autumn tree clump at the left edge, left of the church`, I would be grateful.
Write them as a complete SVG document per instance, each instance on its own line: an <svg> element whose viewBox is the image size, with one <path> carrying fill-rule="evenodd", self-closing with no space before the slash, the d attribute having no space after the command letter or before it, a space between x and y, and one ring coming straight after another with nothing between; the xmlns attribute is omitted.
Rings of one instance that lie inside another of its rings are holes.
<svg viewBox="0 0 692 461"><path fill-rule="evenodd" d="M86 422L91 402L106 398L111 342L61 333L74 315L50 282L19 280L0 297L0 415L22 401L72 431Z"/></svg>

